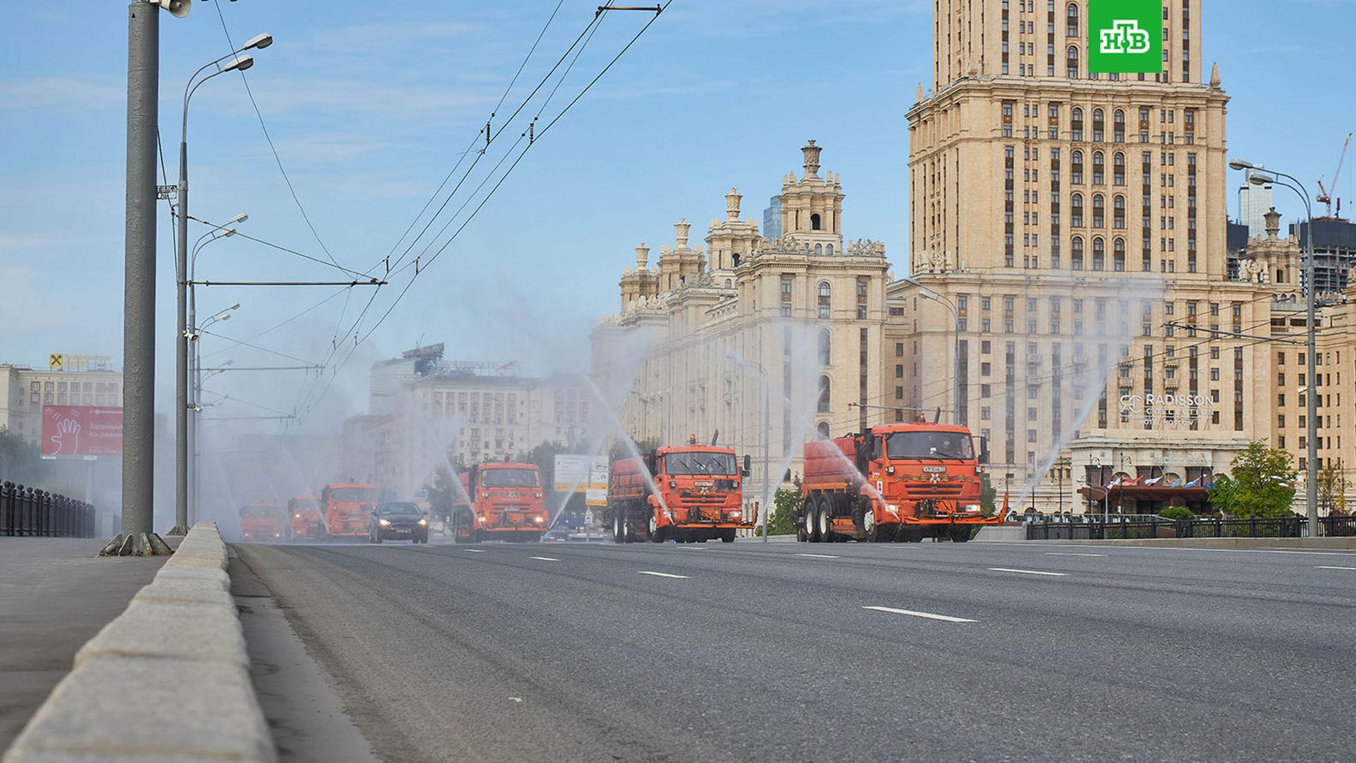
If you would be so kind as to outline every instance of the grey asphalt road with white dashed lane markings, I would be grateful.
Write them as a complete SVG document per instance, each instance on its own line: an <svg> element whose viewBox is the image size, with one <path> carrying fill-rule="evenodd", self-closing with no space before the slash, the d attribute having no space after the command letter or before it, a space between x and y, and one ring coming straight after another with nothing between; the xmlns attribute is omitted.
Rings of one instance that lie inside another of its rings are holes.
<svg viewBox="0 0 1356 763"><path fill-rule="evenodd" d="M1353 759L1356 553L237 550L384 760Z"/></svg>

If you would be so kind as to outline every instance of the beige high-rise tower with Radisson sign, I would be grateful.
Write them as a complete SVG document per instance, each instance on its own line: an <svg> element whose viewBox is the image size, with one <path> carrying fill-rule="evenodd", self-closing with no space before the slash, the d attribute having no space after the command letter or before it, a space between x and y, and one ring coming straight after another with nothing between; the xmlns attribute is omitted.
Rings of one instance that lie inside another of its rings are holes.
<svg viewBox="0 0 1356 763"><path fill-rule="evenodd" d="M1210 474L1269 433L1268 386L1245 383L1267 353L1210 333L1265 327L1276 286L1226 272L1229 98L1200 76L1200 11L1163 3L1161 71L1098 75L1086 0L933 4L885 405L987 436L1026 506L1069 510L1079 478Z"/></svg>

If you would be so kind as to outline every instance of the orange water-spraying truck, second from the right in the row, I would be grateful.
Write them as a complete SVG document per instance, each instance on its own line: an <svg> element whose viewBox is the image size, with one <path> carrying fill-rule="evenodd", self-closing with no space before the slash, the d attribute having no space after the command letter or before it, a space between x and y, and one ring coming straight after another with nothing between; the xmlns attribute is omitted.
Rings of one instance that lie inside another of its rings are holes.
<svg viewBox="0 0 1356 763"><path fill-rule="evenodd" d="M617 543L734 542L757 520L743 506L744 477L749 456L739 468L735 452L716 445L658 448L640 459L616 460L603 527L612 528Z"/></svg>

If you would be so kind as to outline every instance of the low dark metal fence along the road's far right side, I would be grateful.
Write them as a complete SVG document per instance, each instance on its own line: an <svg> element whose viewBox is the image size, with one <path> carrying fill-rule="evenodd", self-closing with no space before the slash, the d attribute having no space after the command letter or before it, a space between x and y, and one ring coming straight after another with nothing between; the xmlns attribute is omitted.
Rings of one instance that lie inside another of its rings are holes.
<svg viewBox="0 0 1356 763"><path fill-rule="evenodd" d="M1328 516L1318 520L1328 536L1356 535L1356 517ZM1306 538L1309 520L1300 516L1272 519L1149 519L1139 521L1033 521L1026 540L1116 540L1143 538Z"/></svg>

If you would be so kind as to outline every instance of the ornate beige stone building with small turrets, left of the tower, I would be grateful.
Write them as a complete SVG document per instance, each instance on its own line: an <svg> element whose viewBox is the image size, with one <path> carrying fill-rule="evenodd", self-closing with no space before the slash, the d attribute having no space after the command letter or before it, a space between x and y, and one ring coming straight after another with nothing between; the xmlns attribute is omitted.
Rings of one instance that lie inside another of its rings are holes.
<svg viewBox="0 0 1356 763"><path fill-rule="evenodd" d="M594 377L631 390L620 418L632 437L709 441L719 430L720 443L754 456L751 485L774 486L799 471L807 437L857 429L866 410L857 406L880 399L885 247L843 238L842 182L820 174L820 151L810 141L803 174L782 178L781 238L742 219L731 189L705 250L690 247L685 220L658 272L636 248L622 310L593 335ZM618 357L636 354L635 364ZM610 373L633 376L633 387Z"/></svg>

